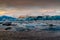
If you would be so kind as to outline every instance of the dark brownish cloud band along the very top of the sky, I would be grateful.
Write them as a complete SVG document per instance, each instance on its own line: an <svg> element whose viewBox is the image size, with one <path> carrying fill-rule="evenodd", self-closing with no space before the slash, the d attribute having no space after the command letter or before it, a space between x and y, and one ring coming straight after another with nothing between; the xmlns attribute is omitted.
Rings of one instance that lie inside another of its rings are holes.
<svg viewBox="0 0 60 40"><path fill-rule="evenodd" d="M0 0L0 5L4 6L45 6L57 4L60 4L60 0Z"/></svg>

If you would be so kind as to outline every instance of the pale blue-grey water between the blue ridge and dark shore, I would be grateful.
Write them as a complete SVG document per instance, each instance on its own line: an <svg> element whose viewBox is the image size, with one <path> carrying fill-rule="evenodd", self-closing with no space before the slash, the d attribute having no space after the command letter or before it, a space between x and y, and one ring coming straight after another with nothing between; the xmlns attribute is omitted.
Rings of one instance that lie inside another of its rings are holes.
<svg viewBox="0 0 60 40"><path fill-rule="evenodd" d="M0 24L0 28L7 28L7 27L12 27L12 31L20 31L21 30L35 30L35 31L40 31L40 30L44 30L44 31L60 31L60 20L38 20L38 21L22 21L21 22L12 22L13 25L11 26L6 26L6 25L2 25ZM52 28L50 28L51 26L49 26L50 24L52 24ZM11 29L10 29L11 30Z"/></svg>

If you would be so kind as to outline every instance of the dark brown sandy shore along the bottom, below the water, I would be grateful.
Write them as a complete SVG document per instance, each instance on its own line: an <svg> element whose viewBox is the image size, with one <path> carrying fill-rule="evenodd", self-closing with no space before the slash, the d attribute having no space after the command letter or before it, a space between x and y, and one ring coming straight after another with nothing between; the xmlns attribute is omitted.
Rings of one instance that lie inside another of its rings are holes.
<svg viewBox="0 0 60 40"><path fill-rule="evenodd" d="M55 32L12 32L0 31L0 40L60 40Z"/></svg>

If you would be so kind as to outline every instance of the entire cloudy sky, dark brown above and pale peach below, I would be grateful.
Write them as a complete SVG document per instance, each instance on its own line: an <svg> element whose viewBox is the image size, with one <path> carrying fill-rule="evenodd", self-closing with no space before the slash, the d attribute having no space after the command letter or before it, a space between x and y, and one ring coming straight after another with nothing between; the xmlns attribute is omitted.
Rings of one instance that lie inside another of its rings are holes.
<svg viewBox="0 0 60 40"><path fill-rule="evenodd" d="M60 0L0 0L0 15L60 15Z"/></svg>

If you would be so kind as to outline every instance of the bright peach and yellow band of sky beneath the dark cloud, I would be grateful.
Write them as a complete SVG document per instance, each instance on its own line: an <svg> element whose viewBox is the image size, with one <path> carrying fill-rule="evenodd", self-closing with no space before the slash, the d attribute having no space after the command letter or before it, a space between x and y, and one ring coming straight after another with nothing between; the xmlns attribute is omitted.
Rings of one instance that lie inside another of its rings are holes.
<svg viewBox="0 0 60 40"><path fill-rule="evenodd" d="M26 8L1 8L0 15L8 15L13 17L19 16L40 16L40 15L60 15L58 8L41 8L41 7L26 7Z"/></svg>

